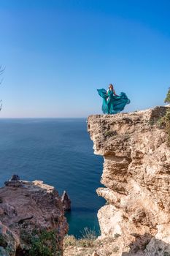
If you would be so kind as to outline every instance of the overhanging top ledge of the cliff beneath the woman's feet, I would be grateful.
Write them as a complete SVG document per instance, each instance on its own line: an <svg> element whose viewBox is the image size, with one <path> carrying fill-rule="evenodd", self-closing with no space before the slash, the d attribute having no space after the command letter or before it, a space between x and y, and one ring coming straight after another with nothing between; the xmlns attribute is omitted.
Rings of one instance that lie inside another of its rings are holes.
<svg viewBox="0 0 170 256"><path fill-rule="evenodd" d="M114 154L110 150L112 148L112 141L121 141L121 136L123 135L128 139L131 135L134 136L134 134L147 135L146 132L149 132L152 135L152 131L155 130L159 135L163 135L163 129L158 127L158 121L165 116L168 109L170 109L168 106L161 106L132 113L89 116L88 132L94 143L94 153L103 156ZM123 141L125 142L126 140Z"/></svg>

